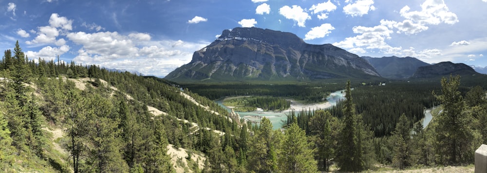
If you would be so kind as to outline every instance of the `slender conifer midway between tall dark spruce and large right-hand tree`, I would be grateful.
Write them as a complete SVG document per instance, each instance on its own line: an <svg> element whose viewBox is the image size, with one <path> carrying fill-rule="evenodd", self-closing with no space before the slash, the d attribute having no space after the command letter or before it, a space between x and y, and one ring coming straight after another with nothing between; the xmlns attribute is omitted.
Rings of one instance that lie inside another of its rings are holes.
<svg viewBox="0 0 487 173"><path fill-rule="evenodd" d="M410 166L411 157L411 136L409 128L409 120L405 114L399 117L399 122L396 124L395 131L393 132L393 165L401 170Z"/></svg>

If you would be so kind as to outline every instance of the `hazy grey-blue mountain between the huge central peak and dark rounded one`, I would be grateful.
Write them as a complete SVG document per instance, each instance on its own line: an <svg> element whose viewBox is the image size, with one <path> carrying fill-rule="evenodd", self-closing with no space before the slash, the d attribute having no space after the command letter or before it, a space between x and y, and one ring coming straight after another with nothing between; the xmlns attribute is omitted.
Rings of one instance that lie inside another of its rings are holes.
<svg viewBox="0 0 487 173"><path fill-rule="evenodd" d="M362 58L369 61L374 66L375 70L385 78L389 79L407 79L414 74L414 71L421 66L428 66L430 64L425 63L419 59L413 57L382 57L373 58L370 56L362 56Z"/></svg>

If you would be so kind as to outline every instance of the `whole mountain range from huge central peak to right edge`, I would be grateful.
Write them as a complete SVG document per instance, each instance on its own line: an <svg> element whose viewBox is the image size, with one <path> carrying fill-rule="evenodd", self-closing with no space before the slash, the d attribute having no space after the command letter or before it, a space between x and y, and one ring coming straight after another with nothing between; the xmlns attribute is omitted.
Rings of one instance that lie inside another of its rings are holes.
<svg viewBox="0 0 487 173"><path fill-rule="evenodd" d="M472 67L475 69L472 69ZM313 45L286 32L234 28L170 72L173 82L310 81L330 78L436 78L487 73L463 63L428 64L413 57L359 57L331 44Z"/></svg>

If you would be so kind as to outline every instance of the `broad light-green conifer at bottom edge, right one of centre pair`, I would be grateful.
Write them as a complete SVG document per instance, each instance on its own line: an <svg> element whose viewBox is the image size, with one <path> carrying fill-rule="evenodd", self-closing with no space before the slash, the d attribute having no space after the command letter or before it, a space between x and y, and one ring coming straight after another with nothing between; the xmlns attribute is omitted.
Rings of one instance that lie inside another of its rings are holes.
<svg viewBox="0 0 487 173"><path fill-rule="evenodd" d="M296 117L295 117L296 119ZM307 141L304 130L297 122L292 123L285 131L279 157L281 172L316 173L317 162L313 158L313 143Z"/></svg>

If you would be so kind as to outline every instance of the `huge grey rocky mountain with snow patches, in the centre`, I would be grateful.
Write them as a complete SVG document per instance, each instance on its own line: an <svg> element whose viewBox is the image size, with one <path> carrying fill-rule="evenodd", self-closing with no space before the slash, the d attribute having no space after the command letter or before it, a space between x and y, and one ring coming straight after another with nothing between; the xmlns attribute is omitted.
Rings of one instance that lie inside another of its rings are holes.
<svg viewBox="0 0 487 173"><path fill-rule="evenodd" d="M380 76L367 61L331 44L312 45L286 32L234 28L165 79L181 81L316 80Z"/></svg>

